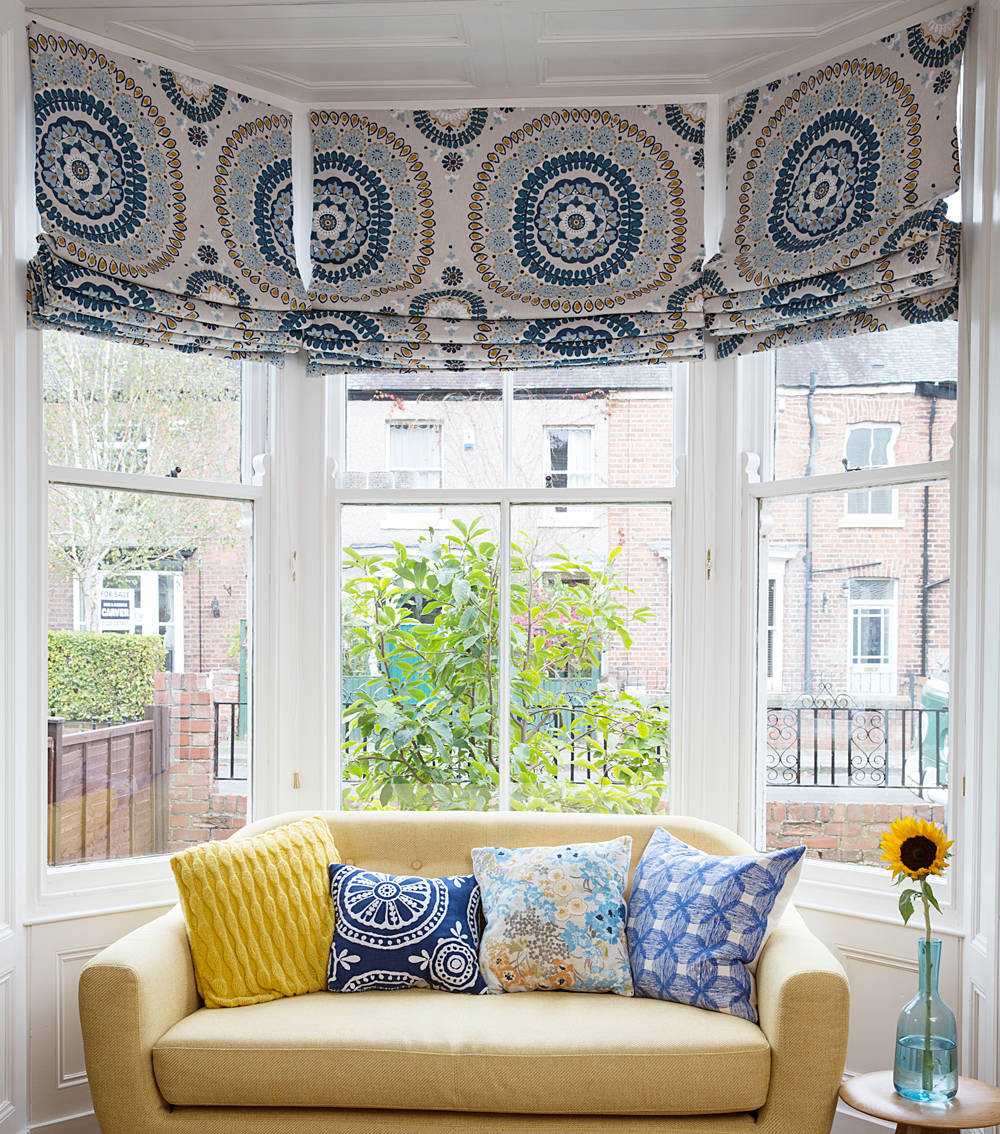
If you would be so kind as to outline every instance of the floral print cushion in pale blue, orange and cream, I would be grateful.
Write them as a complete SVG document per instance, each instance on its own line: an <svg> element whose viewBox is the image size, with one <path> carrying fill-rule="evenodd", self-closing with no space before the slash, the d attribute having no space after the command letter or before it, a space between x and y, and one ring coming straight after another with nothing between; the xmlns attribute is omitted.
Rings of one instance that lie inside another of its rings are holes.
<svg viewBox="0 0 1000 1134"><path fill-rule="evenodd" d="M632 838L561 847L476 847L486 930L480 967L492 992L632 996L625 885Z"/></svg>

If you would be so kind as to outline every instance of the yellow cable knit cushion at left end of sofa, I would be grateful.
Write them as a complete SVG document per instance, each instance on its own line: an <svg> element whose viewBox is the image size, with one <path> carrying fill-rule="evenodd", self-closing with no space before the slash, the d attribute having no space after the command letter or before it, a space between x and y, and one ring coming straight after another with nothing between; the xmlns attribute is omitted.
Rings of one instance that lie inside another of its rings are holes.
<svg viewBox="0 0 1000 1134"><path fill-rule="evenodd" d="M205 1007L327 988L333 939L328 866L338 861L330 828L319 816L173 855Z"/></svg>

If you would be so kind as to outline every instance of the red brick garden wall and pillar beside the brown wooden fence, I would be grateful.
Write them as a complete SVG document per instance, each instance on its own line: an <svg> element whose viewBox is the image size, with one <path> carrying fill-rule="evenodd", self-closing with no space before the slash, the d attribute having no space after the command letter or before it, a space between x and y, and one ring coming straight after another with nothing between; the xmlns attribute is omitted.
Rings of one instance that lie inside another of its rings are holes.
<svg viewBox="0 0 1000 1134"><path fill-rule="evenodd" d="M215 790L214 702L230 696L224 686L210 687L205 674L156 674L154 701L170 708L167 849L171 854L227 838L246 823L246 795Z"/></svg>

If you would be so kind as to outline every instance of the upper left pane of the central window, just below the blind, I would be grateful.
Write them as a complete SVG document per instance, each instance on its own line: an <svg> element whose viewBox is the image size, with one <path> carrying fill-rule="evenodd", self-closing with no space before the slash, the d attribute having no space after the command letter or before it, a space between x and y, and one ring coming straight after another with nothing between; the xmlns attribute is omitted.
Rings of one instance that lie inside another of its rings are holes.
<svg viewBox="0 0 1000 1134"><path fill-rule="evenodd" d="M348 489L485 489L500 483L499 374L347 379ZM393 509L396 511L397 509Z"/></svg>

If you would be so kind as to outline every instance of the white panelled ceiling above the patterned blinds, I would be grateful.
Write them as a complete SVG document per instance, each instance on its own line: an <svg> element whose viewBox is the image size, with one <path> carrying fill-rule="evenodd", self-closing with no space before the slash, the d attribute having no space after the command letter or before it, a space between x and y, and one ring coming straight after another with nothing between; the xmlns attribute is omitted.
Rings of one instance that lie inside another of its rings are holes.
<svg viewBox="0 0 1000 1134"><path fill-rule="evenodd" d="M61 0L31 10L279 102L345 108L694 101L788 74L926 9L927 0Z"/></svg>

